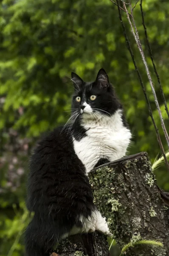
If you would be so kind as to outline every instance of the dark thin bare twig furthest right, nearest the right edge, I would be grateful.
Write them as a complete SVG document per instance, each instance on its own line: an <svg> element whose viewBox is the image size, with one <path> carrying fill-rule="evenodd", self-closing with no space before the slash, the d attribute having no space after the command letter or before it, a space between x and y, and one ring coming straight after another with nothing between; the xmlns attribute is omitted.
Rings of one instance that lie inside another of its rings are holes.
<svg viewBox="0 0 169 256"><path fill-rule="evenodd" d="M158 75L158 72L157 72L157 69L156 69L156 66L155 66L155 63L154 63L154 58L152 56L152 49L150 47L148 35L147 35L147 32L146 32L146 25L145 25L145 22L144 22L142 0L141 0L141 3L140 3L140 9L141 9L141 16L142 16L142 24L144 26L144 34L146 36L146 44L147 44L148 49L149 49L149 55L150 55L150 58L152 60L152 65L154 67L155 75L157 76L158 84L160 85L160 92L161 92L161 97L162 97L164 105L165 105L165 110L166 110L167 116L169 118L169 110L168 110L168 107L167 107L167 104L166 104L166 98L165 98L164 93L163 93L163 88L162 88L162 85L161 85L160 77Z"/></svg>

